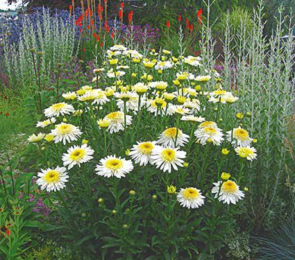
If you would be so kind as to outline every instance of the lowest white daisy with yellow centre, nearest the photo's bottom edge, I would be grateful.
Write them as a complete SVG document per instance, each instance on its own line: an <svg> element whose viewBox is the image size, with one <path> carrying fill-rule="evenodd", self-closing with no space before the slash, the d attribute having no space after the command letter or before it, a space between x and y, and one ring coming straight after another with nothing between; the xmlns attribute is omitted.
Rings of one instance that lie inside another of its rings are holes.
<svg viewBox="0 0 295 260"><path fill-rule="evenodd" d="M205 196L202 196L201 190L190 187L186 189L180 189L177 194L177 201L181 206L188 209L196 209L204 204Z"/></svg>

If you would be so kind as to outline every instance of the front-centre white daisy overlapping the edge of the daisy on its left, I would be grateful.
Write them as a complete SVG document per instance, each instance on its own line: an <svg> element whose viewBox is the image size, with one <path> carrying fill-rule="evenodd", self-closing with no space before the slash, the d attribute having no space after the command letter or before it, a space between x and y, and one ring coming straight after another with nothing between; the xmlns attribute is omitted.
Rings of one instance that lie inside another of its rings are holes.
<svg viewBox="0 0 295 260"><path fill-rule="evenodd" d="M165 147L155 147L153 150L151 161L155 164L156 168L160 168L162 171L168 171L171 173L171 167L175 171L178 170L177 166L183 167L183 159L186 156L186 152L183 150L178 150L178 148L165 148Z"/></svg>

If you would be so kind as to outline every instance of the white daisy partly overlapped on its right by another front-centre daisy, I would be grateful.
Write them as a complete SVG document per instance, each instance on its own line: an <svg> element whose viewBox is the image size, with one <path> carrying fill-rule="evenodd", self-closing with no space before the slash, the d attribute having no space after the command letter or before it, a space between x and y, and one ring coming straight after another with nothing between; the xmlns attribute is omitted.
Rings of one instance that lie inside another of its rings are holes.
<svg viewBox="0 0 295 260"><path fill-rule="evenodd" d="M153 149L155 147L155 141L137 141L137 144L131 148L129 155L135 160L136 164L146 166L148 163L151 164L151 154L153 153Z"/></svg>

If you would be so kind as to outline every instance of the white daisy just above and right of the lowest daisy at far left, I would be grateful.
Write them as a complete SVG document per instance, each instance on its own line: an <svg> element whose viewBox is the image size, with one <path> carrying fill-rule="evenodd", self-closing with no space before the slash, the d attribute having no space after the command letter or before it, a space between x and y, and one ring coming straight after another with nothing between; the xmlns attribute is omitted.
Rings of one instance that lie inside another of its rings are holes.
<svg viewBox="0 0 295 260"><path fill-rule="evenodd" d="M82 146L71 146L67 149L67 153L62 155L62 162L68 169L73 168L76 164L80 167L84 162L93 158L94 150L83 144Z"/></svg>

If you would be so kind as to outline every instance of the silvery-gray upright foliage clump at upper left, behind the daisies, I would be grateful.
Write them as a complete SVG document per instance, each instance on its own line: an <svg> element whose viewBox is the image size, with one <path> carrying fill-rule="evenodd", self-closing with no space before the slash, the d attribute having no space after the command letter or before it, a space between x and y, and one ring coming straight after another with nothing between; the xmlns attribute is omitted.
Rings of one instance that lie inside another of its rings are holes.
<svg viewBox="0 0 295 260"><path fill-rule="evenodd" d="M42 77L46 78L56 70L58 63L64 63L69 56L76 55L79 43L75 37L74 20L61 21L57 15L51 15L49 9L42 10L40 19L35 24L25 17L22 34L17 42L11 43L5 36L2 39L1 62L8 75L10 87L13 88L15 83L22 83L23 87L34 83L31 49L42 52L36 60L40 64Z"/></svg>

